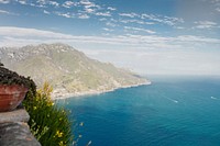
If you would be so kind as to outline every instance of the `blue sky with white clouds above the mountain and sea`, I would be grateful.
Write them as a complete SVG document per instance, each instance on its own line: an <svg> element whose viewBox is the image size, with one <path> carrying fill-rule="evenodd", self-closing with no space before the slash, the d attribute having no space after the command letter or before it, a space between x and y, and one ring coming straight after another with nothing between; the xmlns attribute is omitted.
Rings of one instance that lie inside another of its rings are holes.
<svg viewBox="0 0 220 146"><path fill-rule="evenodd" d="M41 43L141 75L220 75L220 0L0 0L0 46Z"/></svg>

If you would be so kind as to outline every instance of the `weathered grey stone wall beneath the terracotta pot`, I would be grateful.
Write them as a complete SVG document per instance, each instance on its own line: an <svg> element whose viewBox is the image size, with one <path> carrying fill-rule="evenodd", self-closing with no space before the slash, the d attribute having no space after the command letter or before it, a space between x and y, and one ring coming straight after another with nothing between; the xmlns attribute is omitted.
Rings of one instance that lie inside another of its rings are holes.
<svg viewBox="0 0 220 146"><path fill-rule="evenodd" d="M22 108L0 112L0 146L41 146L30 132L29 119L29 113Z"/></svg>

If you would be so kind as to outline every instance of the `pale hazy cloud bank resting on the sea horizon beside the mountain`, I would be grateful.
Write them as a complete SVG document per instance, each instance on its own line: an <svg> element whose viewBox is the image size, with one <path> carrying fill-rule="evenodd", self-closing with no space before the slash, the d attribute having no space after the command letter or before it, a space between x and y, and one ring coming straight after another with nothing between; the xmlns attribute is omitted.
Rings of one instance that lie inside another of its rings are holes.
<svg viewBox="0 0 220 146"><path fill-rule="evenodd" d="M220 58L215 53L160 49L86 49L92 58L113 63L143 75L219 75ZM219 52L218 52L219 53Z"/></svg>

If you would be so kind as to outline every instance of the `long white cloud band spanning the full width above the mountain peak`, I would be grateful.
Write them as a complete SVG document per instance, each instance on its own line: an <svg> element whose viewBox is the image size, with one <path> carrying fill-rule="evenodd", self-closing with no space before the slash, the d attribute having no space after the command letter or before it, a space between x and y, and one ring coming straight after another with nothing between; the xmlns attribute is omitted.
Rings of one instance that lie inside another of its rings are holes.
<svg viewBox="0 0 220 146"><path fill-rule="evenodd" d="M121 44L124 46L138 46L145 48L187 48L197 46L207 45L220 45L220 40L209 38L204 36L195 35L180 35L177 37L162 37L156 35L118 35L112 37L102 37L102 36L75 36L67 35L51 31L42 31L36 29L24 29L24 27L10 27L10 26L0 26L0 36L14 37L14 38L37 38L44 42L47 41L61 41L61 42L78 42L78 43L98 43L98 44ZM1 44L1 43L0 43ZM3 45L3 44L1 44ZM206 47L206 46L204 46Z"/></svg>

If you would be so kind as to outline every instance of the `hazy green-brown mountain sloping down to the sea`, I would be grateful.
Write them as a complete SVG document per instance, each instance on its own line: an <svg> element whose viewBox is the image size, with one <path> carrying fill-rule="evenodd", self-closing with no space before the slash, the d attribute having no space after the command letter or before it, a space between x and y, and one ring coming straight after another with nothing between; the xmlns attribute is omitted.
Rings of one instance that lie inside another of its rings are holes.
<svg viewBox="0 0 220 146"><path fill-rule="evenodd" d="M150 82L112 64L88 58L65 44L1 47L0 59L9 69L31 76L37 86L48 81L54 87L54 97L98 93Z"/></svg>

